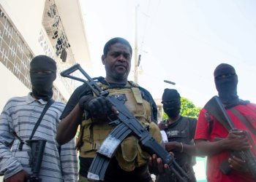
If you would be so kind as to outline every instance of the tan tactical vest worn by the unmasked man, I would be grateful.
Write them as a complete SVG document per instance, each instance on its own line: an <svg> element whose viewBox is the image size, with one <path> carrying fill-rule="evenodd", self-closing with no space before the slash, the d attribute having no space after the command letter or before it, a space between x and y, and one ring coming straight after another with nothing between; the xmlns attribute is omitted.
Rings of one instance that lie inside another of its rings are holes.
<svg viewBox="0 0 256 182"><path fill-rule="evenodd" d="M149 128L149 132L159 143L162 142L159 128L151 119L151 104L142 98L138 84L127 82L125 87L115 89L108 89L108 85L100 82L97 82L97 84L102 90L107 90L109 95L125 95L126 101L124 105L144 127ZM81 123L78 139L82 142L79 148L80 157L95 157L97 149L99 149L99 146L113 128L108 124L108 121L84 120ZM135 167L145 165L149 157L146 152L142 151L138 144L138 139L134 136L127 137L118 147L115 155L119 166L126 171L132 171Z"/></svg>

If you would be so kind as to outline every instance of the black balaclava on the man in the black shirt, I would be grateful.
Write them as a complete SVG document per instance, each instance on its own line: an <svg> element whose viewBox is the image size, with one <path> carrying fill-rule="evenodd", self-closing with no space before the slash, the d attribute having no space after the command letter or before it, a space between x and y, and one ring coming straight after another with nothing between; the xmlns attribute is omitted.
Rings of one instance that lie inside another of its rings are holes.
<svg viewBox="0 0 256 182"><path fill-rule="evenodd" d="M175 119L181 110L181 96L174 89L165 89L162 95L162 107L165 113L171 118Z"/></svg>

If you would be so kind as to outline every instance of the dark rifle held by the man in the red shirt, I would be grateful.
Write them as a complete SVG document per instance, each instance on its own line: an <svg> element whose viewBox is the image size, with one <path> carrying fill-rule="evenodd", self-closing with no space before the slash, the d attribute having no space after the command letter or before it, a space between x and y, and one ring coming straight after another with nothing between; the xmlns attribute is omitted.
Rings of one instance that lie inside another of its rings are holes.
<svg viewBox="0 0 256 182"><path fill-rule="evenodd" d="M209 100L208 103L206 103L206 106L204 106L204 108L206 108L206 111L208 111L209 114L214 116L217 119L217 121L220 124L222 124L223 127L225 127L228 131L238 130L231 121L230 116L228 116L226 109L224 108L222 102L219 100L217 96L211 98L211 100ZM250 143L252 143L252 145L255 145L249 133L247 131L244 132L246 133L246 137L249 139ZM232 153L246 162L246 165L249 167L250 173L252 173L253 178L255 178L256 180L256 157L254 156L252 151L232 151ZM222 173L224 174L230 173L231 170L231 167L227 161L224 161L219 168L220 170L222 170Z"/></svg>

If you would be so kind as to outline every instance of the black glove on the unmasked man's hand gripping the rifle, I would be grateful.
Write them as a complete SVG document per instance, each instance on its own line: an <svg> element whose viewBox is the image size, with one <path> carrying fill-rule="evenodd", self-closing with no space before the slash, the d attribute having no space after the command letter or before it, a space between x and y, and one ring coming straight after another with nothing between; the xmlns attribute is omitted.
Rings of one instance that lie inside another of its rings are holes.
<svg viewBox="0 0 256 182"><path fill-rule="evenodd" d="M79 107L86 111L86 115L89 115L96 119L104 119L111 113L112 103L103 96L94 97L91 95L85 95L80 98ZM86 116L89 118L89 116Z"/></svg>

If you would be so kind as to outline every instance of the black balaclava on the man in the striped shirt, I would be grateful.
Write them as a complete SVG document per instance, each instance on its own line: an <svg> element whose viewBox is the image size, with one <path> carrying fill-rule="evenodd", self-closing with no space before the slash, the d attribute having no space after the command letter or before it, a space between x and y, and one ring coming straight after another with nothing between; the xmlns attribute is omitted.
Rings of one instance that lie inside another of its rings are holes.
<svg viewBox="0 0 256 182"><path fill-rule="evenodd" d="M30 79L35 98L48 101L53 97L56 70L56 62L46 55L38 55L31 60Z"/></svg>

